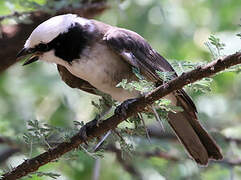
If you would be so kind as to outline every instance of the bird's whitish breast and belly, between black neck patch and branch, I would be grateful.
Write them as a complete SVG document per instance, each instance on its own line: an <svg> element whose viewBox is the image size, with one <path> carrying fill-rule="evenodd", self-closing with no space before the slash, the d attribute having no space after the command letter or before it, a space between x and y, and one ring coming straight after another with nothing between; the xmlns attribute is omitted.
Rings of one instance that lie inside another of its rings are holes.
<svg viewBox="0 0 241 180"><path fill-rule="evenodd" d="M135 79L131 67L107 46L95 43L81 53L81 58L65 67L75 76L88 81L100 91L110 94L117 101L124 101L140 95L137 91L117 88L122 79Z"/></svg>

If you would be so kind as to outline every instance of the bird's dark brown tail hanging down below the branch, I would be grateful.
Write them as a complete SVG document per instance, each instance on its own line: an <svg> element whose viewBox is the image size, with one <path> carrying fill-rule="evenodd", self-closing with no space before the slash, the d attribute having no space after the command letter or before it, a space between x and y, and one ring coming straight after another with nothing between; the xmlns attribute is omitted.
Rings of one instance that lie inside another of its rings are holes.
<svg viewBox="0 0 241 180"><path fill-rule="evenodd" d="M178 106L184 111L169 113L168 122L190 156L201 165L207 165L209 159L221 160L220 148L202 127L193 108L182 95L176 98Z"/></svg>

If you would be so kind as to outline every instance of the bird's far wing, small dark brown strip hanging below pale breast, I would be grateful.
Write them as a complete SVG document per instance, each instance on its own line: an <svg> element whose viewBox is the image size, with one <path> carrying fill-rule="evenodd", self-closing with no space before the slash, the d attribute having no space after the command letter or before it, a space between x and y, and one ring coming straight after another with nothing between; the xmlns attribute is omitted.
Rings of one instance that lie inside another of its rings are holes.
<svg viewBox="0 0 241 180"><path fill-rule="evenodd" d="M57 65L59 74L61 76L61 79L71 88L78 88L80 90L83 90L85 92L96 94L96 88L92 86L87 81L80 79L73 74L71 74L64 66Z"/></svg>

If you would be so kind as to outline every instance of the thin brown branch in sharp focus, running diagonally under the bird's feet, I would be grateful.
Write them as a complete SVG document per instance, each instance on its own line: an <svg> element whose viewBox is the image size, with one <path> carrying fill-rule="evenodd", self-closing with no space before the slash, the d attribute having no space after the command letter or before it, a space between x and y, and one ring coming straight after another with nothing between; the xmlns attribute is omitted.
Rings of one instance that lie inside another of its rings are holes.
<svg viewBox="0 0 241 180"><path fill-rule="evenodd" d="M108 132L111 129L114 129L120 124L122 121L127 119L128 117L136 114L144 110L144 108L154 103L154 101L166 96L167 94L183 88L185 85L198 81L204 77L209 77L217 72L225 70L231 66L237 65L241 63L241 52L226 56L222 59L218 59L213 61L206 66L200 66L192 71L183 73L181 76L167 82L166 84L156 88L152 92L147 95L138 98L137 101L134 101L129 104L126 113L124 114L114 114L110 118L97 122L93 120L87 123L84 126L87 134L87 140L93 139L94 137L99 137L104 133ZM43 166L63 154L77 148L81 143L83 143L83 139L80 134L74 135L68 142L63 142L59 144L57 147L53 149L49 149L47 152L44 152L32 159L26 160L16 168L14 168L11 172L8 172L3 175L2 179L18 179L27 174L37 171L40 166Z"/></svg>

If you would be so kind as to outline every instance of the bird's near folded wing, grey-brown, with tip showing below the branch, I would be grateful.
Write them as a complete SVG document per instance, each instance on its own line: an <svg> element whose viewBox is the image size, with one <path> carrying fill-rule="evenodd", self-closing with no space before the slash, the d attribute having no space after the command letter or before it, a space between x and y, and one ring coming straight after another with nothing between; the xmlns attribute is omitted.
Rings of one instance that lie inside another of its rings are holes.
<svg viewBox="0 0 241 180"><path fill-rule="evenodd" d="M152 49L147 41L137 33L126 29L112 28L106 32L103 39L122 59L138 68L149 80L158 84L162 82L157 71L173 72L172 78L177 77L169 62ZM188 104L189 108L197 112L195 104L184 90L178 90L177 94Z"/></svg>

